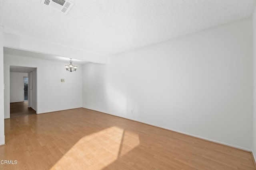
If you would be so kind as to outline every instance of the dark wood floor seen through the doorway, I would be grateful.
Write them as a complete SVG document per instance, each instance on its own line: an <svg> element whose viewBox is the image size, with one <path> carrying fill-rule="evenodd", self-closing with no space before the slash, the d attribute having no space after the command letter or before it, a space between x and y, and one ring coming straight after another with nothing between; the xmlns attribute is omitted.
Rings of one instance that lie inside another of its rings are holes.
<svg viewBox="0 0 256 170"><path fill-rule="evenodd" d="M36 111L28 107L28 102L10 103L10 117L36 114Z"/></svg>

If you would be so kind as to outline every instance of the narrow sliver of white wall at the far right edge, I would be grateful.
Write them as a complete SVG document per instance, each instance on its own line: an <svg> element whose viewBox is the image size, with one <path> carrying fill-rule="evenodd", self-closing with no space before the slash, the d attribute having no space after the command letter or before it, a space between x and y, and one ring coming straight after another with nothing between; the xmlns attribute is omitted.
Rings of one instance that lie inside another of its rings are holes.
<svg viewBox="0 0 256 170"><path fill-rule="evenodd" d="M252 118L252 153L256 160L256 8L252 16L253 30L253 118Z"/></svg>

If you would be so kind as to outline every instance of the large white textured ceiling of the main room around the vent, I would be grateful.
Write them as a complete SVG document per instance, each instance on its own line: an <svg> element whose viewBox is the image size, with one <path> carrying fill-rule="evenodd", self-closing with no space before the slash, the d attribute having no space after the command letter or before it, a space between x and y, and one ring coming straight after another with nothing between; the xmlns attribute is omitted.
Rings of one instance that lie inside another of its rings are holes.
<svg viewBox="0 0 256 170"><path fill-rule="evenodd" d="M112 55L252 16L255 0L0 0L4 31Z"/></svg>

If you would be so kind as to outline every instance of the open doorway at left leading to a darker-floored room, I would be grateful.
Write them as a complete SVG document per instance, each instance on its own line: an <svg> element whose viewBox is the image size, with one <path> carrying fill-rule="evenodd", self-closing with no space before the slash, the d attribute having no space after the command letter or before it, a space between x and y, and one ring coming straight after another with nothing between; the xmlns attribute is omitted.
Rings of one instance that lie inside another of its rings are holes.
<svg viewBox="0 0 256 170"><path fill-rule="evenodd" d="M10 118L36 114L37 68L10 66Z"/></svg>

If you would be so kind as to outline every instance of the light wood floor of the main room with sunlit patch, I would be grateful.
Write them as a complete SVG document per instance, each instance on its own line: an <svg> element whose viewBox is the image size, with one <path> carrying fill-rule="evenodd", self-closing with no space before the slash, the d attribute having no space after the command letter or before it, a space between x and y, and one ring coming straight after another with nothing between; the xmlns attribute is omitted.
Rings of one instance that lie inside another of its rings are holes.
<svg viewBox="0 0 256 170"><path fill-rule="evenodd" d="M249 152L83 108L5 119L5 135L7 170L255 169Z"/></svg>

